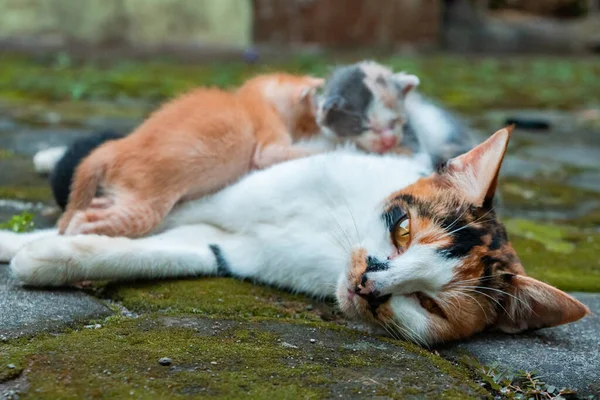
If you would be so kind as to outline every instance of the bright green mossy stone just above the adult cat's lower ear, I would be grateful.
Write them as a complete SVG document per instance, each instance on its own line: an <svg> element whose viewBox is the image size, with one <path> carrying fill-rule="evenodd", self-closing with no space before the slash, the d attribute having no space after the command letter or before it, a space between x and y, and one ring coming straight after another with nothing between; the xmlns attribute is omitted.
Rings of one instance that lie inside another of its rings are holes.
<svg viewBox="0 0 600 400"><path fill-rule="evenodd" d="M600 291L600 233L526 220L505 223L529 275L567 291Z"/></svg>

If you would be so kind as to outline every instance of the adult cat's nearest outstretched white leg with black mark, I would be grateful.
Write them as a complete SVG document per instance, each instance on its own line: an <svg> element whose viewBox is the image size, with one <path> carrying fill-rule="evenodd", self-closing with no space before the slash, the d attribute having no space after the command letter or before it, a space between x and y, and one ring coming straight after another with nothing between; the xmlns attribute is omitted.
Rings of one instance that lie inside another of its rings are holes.
<svg viewBox="0 0 600 400"><path fill-rule="evenodd" d="M49 237L23 247L11 261L11 269L21 282L35 286L61 286L87 280L229 275L231 271L221 246L238 255L234 258L239 264L235 275L253 274L255 269L248 266L261 265L260 247L253 239L207 225L192 225L143 239L97 235Z"/></svg>

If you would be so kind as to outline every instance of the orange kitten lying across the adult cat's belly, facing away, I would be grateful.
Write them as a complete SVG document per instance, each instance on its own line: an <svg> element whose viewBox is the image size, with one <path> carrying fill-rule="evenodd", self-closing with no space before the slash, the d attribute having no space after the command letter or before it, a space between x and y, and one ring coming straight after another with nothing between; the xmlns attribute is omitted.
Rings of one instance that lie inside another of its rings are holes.
<svg viewBox="0 0 600 400"><path fill-rule="evenodd" d="M291 132L318 130L313 97L322 84L268 74L235 93L201 88L166 103L77 166L59 231L143 236L180 201L221 189L252 168L307 155L293 146Z"/></svg>

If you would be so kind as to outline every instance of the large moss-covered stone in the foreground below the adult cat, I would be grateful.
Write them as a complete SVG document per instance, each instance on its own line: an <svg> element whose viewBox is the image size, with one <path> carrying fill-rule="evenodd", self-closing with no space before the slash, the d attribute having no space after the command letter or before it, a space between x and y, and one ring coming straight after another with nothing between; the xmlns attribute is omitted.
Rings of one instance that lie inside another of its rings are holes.
<svg viewBox="0 0 600 400"><path fill-rule="evenodd" d="M22 371L24 399L487 395L460 368L421 350L294 324L117 319L100 329L0 344L0 355L15 365L11 371ZM159 365L162 357L172 365Z"/></svg>

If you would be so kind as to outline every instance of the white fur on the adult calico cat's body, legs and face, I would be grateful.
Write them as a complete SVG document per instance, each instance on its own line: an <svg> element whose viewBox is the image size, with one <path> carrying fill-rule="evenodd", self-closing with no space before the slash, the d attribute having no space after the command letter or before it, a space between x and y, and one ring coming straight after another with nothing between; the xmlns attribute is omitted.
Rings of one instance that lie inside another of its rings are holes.
<svg viewBox="0 0 600 400"><path fill-rule="evenodd" d="M382 219L385 199L431 172L427 157L386 157L350 149L294 160L248 175L238 183L170 214L142 239L56 231L0 232L0 257L12 258L21 282L36 286L83 280L166 278L218 273L210 245L229 272L266 284L333 297L347 314L350 253L393 253ZM411 247L374 277L394 292L397 323L428 342L427 312L406 290L434 293L454 265L424 246ZM406 286L403 286L406 284Z"/></svg>

